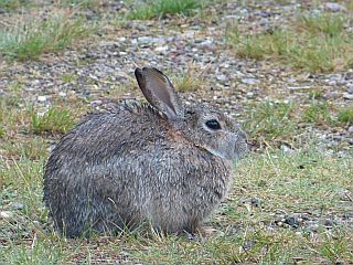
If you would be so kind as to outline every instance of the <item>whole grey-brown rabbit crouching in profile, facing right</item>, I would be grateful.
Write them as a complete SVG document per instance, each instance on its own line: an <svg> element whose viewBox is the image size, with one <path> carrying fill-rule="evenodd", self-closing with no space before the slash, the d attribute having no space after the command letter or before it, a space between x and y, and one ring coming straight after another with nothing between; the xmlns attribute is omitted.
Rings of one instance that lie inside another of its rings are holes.
<svg viewBox="0 0 353 265"><path fill-rule="evenodd" d="M148 103L87 115L52 150L44 202L66 237L150 225L196 232L232 183L246 134L203 105L183 105L169 78L136 68Z"/></svg>

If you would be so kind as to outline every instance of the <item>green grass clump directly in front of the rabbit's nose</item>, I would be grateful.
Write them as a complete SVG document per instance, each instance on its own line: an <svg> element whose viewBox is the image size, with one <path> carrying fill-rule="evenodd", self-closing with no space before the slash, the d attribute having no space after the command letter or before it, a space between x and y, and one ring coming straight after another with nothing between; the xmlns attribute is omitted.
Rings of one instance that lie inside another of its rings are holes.
<svg viewBox="0 0 353 265"><path fill-rule="evenodd" d="M243 127L255 140L290 140L296 132L292 112L292 104L261 103L250 110Z"/></svg>

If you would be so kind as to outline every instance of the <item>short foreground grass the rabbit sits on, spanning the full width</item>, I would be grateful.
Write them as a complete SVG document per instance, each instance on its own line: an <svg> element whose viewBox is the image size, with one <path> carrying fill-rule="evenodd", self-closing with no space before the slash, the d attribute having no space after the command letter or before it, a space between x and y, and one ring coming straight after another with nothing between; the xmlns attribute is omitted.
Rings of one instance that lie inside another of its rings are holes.
<svg viewBox="0 0 353 265"><path fill-rule="evenodd" d="M352 226L335 225L329 233L320 222L350 210L351 202L341 197L342 191L353 191L350 156L325 156L309 148L291 155L268 151L246 158L236 171L233 193L211 221L217 232L194 240L146 236L139 230L89 242L57 237L51 232L42 203L44 162L44 157L0 160L1 211L12 213L0 220L0 258L6 264L353 262ZM239 203L244 198L258 198L260 204ZM14 210L15 202L23 203L23 209ZM298 229L276 223L284 213L308 212L310 219L318 220L315 232L308 232L310 222Z"/></svg>

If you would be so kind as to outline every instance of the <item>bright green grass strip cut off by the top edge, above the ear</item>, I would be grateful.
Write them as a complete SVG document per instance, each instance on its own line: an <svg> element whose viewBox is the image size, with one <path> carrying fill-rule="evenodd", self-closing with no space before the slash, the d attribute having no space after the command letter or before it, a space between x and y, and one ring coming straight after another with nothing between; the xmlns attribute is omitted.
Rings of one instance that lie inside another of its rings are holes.
<svg viewBox="0 0 353 265"><path fill-rule="evenodd" d="M148 20L167 14L190 15L203 7L204 1L197 0L157 0L135 3L128 19Z"/></svg>

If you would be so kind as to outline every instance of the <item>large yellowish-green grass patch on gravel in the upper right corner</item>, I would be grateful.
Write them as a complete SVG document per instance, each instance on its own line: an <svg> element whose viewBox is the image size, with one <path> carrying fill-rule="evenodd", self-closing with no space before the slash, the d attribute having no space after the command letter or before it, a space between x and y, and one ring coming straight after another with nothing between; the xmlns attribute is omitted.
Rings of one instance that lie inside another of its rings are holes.
<svg viewBox="0 0 353 265"><path fill-rule="evenodd" d="M278 59L309 72L331 72L351 67L353 34L345 29L350 17L302 14L289 28L279 26L243 34L239 24L228 26L226 38L239 57Z"/></svg>

